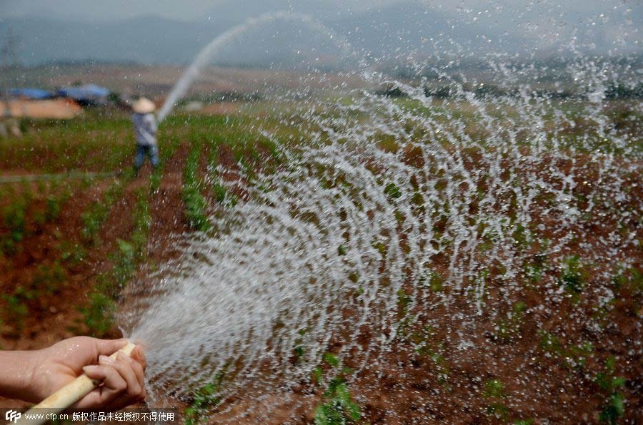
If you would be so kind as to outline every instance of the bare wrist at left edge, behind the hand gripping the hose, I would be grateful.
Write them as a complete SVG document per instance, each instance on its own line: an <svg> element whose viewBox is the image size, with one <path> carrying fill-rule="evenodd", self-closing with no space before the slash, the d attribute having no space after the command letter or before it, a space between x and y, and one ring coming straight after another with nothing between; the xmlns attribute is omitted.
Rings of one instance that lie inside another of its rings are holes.
<svg viewBox="0 0 643 425"><path fill-rule="evenodd" d="M24 401L34 399L34 353L0 352L0 396Z"/></svg>

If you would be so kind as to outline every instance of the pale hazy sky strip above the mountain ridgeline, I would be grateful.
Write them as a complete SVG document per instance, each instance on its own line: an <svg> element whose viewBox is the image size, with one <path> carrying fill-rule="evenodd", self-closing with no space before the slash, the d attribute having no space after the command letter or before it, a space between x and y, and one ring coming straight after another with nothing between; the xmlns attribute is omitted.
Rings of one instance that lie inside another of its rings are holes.
<svg viewBox="0 0 643 425"><path fill-rule="evenodd" d="M0 0L0 18L14 16L48 16L58 19L126 19L155 14L171 19L203 19L216 12L216 7L243 4L240 14L256 10L317 9L324 14L347 14L351 11L379 8L402 0ZM614 9L632 9L634 18L643 19L641 0L407 0L422 3L447 14L475 16L501 11L537 11L557 14L567 12L600 13ZM311 5L312 4L312 5ZM310 10L309 10L310 11Z"/></svg>

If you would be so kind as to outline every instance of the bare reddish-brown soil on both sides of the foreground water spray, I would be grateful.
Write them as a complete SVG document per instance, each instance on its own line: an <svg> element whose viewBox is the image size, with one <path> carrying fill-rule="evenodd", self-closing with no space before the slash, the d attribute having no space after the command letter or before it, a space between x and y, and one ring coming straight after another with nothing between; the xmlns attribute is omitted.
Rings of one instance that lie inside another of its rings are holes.
<svg viewBox="0 0 643 425"><path fill-rule="evenodd" d="M174 257L174 240L171 235L186 232L183 217L183 202L181 199L181 170L188 153L186 146L169 159L165 166L163 180L159 191L151 197L152 226L149 234L149 252L147 262L139 271L138 279L144 280L149 268L166 262ZM229 169L224 173L226 180L238 179L236 161L229 147L222 145L217 153L219 162ZM408 153L409 163L413 163L412 152ZM266 156L266 155L262 155ZM204 158L208 157L208 153ZM267 156L266 156L267 158ZM474 156L472 155L472 163ZM265 158L264 158L265 159ZM201 162L201 173L206 166ZM469 164L470 165L470 164ZM565 164L559 164L564 169ZM590 182L597 178L592 173L585 176ZM636 180L634 180L636 181ZM109 220L101 230L102 244L90 247L86 261L77 267L67 270L68 279L61 285L52 297L42 297L29 305L29 317L23 327L17 327L11 321L4 323L0 343L4 349L36 349L75 334L86 332L81 314L76 306L84 302L87 292L94 283L94 277L110 267L105 252L114 249L116 240L126 238L132 230L131 210L134 208L134 190L146 185L146 178L131 182L124 196L112 208ZM99 198L109 185L104 181L90 190L76 191L74 197L66 203L64 211L56 222L44 225L34 235L21 242L21 253L15 257L0 260L0 288L3 292L13 290L17 285L26 284L36 267L53 262L59 255L56 233L64 235L64 239L81 243L80 231L83 226L81 213L86 210L92 200ZM579 190L583 190L579 187ZM643 197L643 188L634 185L639 197ZM208 195L208 194L206 194ZM236 193L244 198L244 193ZM472 207L475 208L475 207ZM632 208L637 208L632 205ZM552 220L542 217L543 222ZM607 220L609 221L609 220ZM579 228L579 234L586 235L589 246L598 246L598 237L604 237L617 223L606 222L606 226L588 223ZM632 223L623 223L639 232L639 240L643 235L637 227L636 217ZM439 225L439 224L438 224ZM402 232L402 230L400 230ZM546 237L557 235L547 234ZM404 239L404 237L402 237ZM572 242L567 247L569 253L582 255L579 242ZM536 255L538 247L532 247L531 255ZM624 257L637 259L637 267L642 268L642 252L632 249L622 252ZM434 257L434 269L446 270L445 257ZM554 275L556 270L549 270ZM641 339L637 334L637 323L641 320L641 300L636 299L629 289L624 288L616 294L616 304L605 317L604 330L597 334L587 329L583 321L594 312L590 308L594 302L591 296L577 303L566 299L555 309L539 310L534 307L546 304L547 294L537 285L522 292L521 298L512 302L522 301L529 309L519 324L519 336L508 341L502 341L495 335L494 319L490 314L492 309L504 311L506 303L493 302L500 299L499 293L505 285L502 280L495 279L498 270L492 270L489 280L489 300L487 311L477 317L477 327L467 329L462 327L459 319L454 317L454 311L448 311L437 305L438 296L428 290L423 293L424 300L412 309L411 314L419 316L416 323L405 334L395 339L387 352L371 353L369 367L361 369L355 377L348 377L349 388L354 399L362 408L362 419L367 423L381 424L410 424L422 423L431 419L434 423L499 423L507 419L542 418L538 423L595 423L598 421L599 406L604 403L606 395L594 382L597 372L604 369L604 362L613 355L617 357L616 376L627 379L627 384L620 389L627 399L624 423L639 423L643 415L642 372L641 359L637 358L628 347ZM587 277L588 286L594 282ZM412 293L412 287L407 288ZM452 306L465 315L475 314L467 297L459 299L459 304ZM344 318L352 322L350 310L344 311ZM398 319L402 319L400 314ZM579 320L582 319L582 320ZM429 338L429 348L439 352L443 359L436 361L430 354L418 353L413 349L414 332L422 332L425 324L438 322L439 327ZM587 359L586 366L575 369L567 364L564 356L552 356L539 347L541 335L539 330L547 330L561 339L564 347L572 347L581 342L591 342L594 345L594 355ZM379 338L379 329L361 329L358 342L364 347L367 343ZM462 332L456 336L454 331ZM113 334L116 336L116 332ZM330 352L337 352L352 334L336 334L329 345ZM472 348L462 350L458 347L462 339L472 342ZM440 345L442 344L442 345ZM635 348L635 347L634 347ZM359 369L364 359L357 353L348 356L346 366ZM440 379L441 371L448 369L449 377L444 382ZM329 369L324 369L324 374ZM490 379L501 379L504 383L506 398L485 395L485 382ZM214 416L214 421L225 421L240 412L252 411L246 416L244 423L266 422L273 424L294 421L309 423L313 419L314 407L323 397L324 388L311 383L311 379L299 382L290 389L285 398L274 396L261 401L266 409L257 408L259 394L252 391L239 393L220 407L221 411L230 409L227 413ZM3 401L0 400L0 406ZM12 402L13 403L13 402ZM499 419L487 412L491 404L506 404L506 419ZM16 404L11 404L15 406ZM270 408L269 417L264 411Z"/></svg>

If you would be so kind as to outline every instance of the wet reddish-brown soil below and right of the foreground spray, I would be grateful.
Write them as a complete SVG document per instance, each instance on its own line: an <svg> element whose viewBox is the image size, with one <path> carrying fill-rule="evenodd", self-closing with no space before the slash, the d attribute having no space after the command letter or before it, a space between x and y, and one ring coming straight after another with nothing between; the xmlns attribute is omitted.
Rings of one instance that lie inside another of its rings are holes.
<svg viewBox="0 0 643 425"><path fill-rule="evenodd" d="M221 154L225 158L226 152ZM412 152L407 154L409 163L417 160ZM577 165L586 160L579 155ZM472 155L468 165L472 166L474 162ZM557 164L561 170L569 166L569 163ZM579 185L578 193L585 193L590 185L597 184L598 175L594 171L589 166L586 173L577 175L577 180L587 180L585 186ZM623 188L637 194L631 198L634 200L643 197L643 188L636 184L639 178L629 176L626 179L629 184ZM628 207L637 210L639 205L635 201ZM477 207L473 205L472 208ZM643 230L637 222L639 217L632 217L629 222L617 222L617 217L610 215L609 211L605 213L603 218L595 215L593 220L584 220L579 225L575 231L583 238L570 242L565 247L565 255L586 257L589 254L587 246L600 246L599 239L607 238L609 232L619 225L634 230L639 240L642 239ZM543 215L541 218L544 223L548 220L554 220L554 217ZM402 228L399 231L402 233ZM557 236L549 230L542 235L549 239ZM528 250L528 257L535 258L538 254L537 245ZM633 259L634 267L643 270L641 247L630 247L619 255ZM434 270L447 270L446 257L436 256L432 260ZM617 261L606 260L590 267L593 274L610 270ZM598 423L609 391L599 387L597 376L605 371L607 359L613 356L616 366L612 376L626 379L626 384L617 389L626 399L625 415L619 423L642 423L643 364L637 354L639 348L636 342L642 337L643 299L640 288L636 290L634 278L628 285L614 290L614 307L609 312L599 313L596 309L598 300L589 288L604 285L604 282L593 277L592 272L584 272L587 290L579 296L580 299L567 297L553 305L551 295L543 285L533 284L529 287L524 277L520 277L520 284L527 285L527 289L513 293L509 302L503 301L501 293L507 289L509 282L499 277L499 269L490 271L487 304L482 315L477 316L467 295L451 294L457 302L447 309L439 305L437 294L429 290L418 294L412 285L407 285L407 294L415 294L417 299L422 299L417 307L409 311L409 314L419 317L417 322L406 332L401 332L390 349L372 352L364 369L363 355L353 352L344 356L345 366L360 370L355 377L349 376L347 379L351 394L362 406L364 422L412 424L429 420L430 423L487 424L537 418L534 424ZM555 281L559 273L559 270L550 268L546 276ZM445 290L451 292L449 288ZM492 312L506 313L516 302L524 302L528 307L517 324L518 332L507 339L499 338L496 329L498 316L494 317ZM546 308L539 309L539 306ZM455 313L476 317L475 327L462 326ZM604 314L599 320L600 331L589 325L590 319L597 317L597 314ZM345 309L343 315L348 323L356 321L354 311L350 309ZM403 318L402 313L397 317L399 320ZM425 325L433 328L430 336L424 338L428 341L429 350L417 352L414 344L422 339L420 335ZM335 334L328 350L338 352L354 338L355 330ZM364 348L382 333L379 329L360 330L358 342ZM561 352L543 347L543 331L559 339ZM471 346L460 348L462 341L469 341ZM569 359L578 356L573 352L574 347L587 342L592 344L593 349L592 354L584 356L584 365L570 364ZM435 359L434 354L439 354L441 358ZM448 371L448 377L441 379L445 371ZM324 376L327 376L327 372L329 368L324 369ZM494 379L502 381L502 394L489 393L486 384ZM310 423L315 406L324 402L325 391L325 387L312 381L304 379L286 390L285 396L279 394L267 399L260 397L265 396L261 391L241 391L219 406L212 420L215 423L235 421L238 415L243 414L243 423L248 424L281 424L286 421ZM261 403L259 407L258 402ZM490 406L496 406L496 414L489 412Z"/></svg>

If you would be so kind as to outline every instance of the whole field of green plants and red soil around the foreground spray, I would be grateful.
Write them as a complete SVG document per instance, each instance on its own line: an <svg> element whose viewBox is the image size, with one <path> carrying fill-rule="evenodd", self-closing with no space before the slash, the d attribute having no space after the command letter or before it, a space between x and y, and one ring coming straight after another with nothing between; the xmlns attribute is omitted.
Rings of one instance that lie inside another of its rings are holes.
<svg viewBox="0 0 643 425"><path fill-rule="evenodd" d="M350 100L345 99L345 103L350 104ZM476 147L462 155L475 168L476 150L484 146L489 134L488 127L479 125L479 117L466 103L435 103L430 108L407 98L394 103L402 110L414 111L416 117L442 121L444 126L464 123L462 135L472 138ZM299 108L302 106L305 104ZM573 103L566 106L570 110L575 107ZM0 177L61 174L39 182L0 183L1 348L34 349L76 334L117 336L114 312L128 282L144 279L171 259L176 235L206 232L216 237L217 229L209 216L246 202L244 190L231 189L226 182L241 179L247 186L261 185L254 176L287 168L281 149L296 151L310 143L301 130L315 131L318 129L314 127L323 123L307 124L303 118L296 124L284 121L285 110L257 102L231 116L171 116L159 131L161 170L146 170L144 178L134 178L131 173L134 138L124 113L89 111L74 121L24 122L23 138L0 140ZM611 122L607 125L640 149L640 110L619 101L610 104L609 110ZM571 112L575 123L569 128L549 128L547 118L553 116L544 114L545 133L563 140L559 149L566 150L579 164L588 151L607 149L618 154L618 148L600 142L584 143L583 135L602 124L584 123L582 111ZM319 111L320 115L324 113ZM496 113L494 119L499 126L514 117L509 108L492 113ZM359 111L350 118L370 119ZM404 125L413 133L414 123ZM428 137L421 128L414 135L420 140ZM405 144L390 135L375 134L372 141L382 152L399 153L409 165L419 161L413 150L405 150ZM315 143L326 142L322 136ZM440 143L449 149L448 138ZM551 139L543 143L551 143ZM224 165L225 171L216 171L217 165ZM65 173L72 171L114 174L67 178ZM594 183L599 181L599 176L589 172L586 177ZM640 173L634 171L629 178L622 183L623 190L641 194ZM328 184L339 187L342 182ZM383 187L389 199L403 195L394 183ZM446 185L440 188L439 182L436 187L447 190ZM484 188L481 183L479 189ZM574 194L579 205L587 205L582 190L579 186ZM422 200L422 191L417 192L414 208L430 208L428 201ZM554 200L543 198L542 202ZM505 206L507 215L512 216L516 208L512 200L508 199ZM633 232L641 241L639 206L630 206L632 221L612 223L606 219L605 223L622 226L623 232ZM473 206L471 211L476 213ZM610 211L604 213L609 215ZM399 211L396 214L402 229L404 217ZM432 232L439 235L447 218L437 214L434 219ZM596 219L587 218L587 223ZM534 223L534 229L538 224ZM584 228L584 234L591 232L588 229ZM606 284L613 292L612 299L599 303L589 288L599 285L592 276L603 265L584 260L579 254L587 249L583 241L569 243L567 260L559 267L543 253L547 245L544 238L530 240L524 237L526 231L516 226L512 233L517 252L526 259L523 272L516 278L522 298L512 298L509 304L494 302L506 291L502 265L479 275L487 282L485 297L494 314L480 317L479 333L471 337L487 341L493 350L484 352L481 348L464 359L445 339L440 326L450 327L454 319L439 307L439 299L450 293L449 276L444 274L446 260L432 257L435 272L423 277L418 284L421 288L404 281L393 300L397 305L393 319L397 337L389 352L376 354L379 365L357 374L359 358L338 358L342 335L334 335L310 379L291 391L294 399L305 400L301 403L307 411L289 417L319 424L412 421L426 414L422 406L414 404L416 395L421 394L424 398L418 400L437 400L430 414L439 421L536 424L565 421L572 412L583 422L635 423L643 414L643 370L637 345L643 314L640 243L638 250L624 253L634 266L614 273L612 282ZM602 230L594 231L602 235ZM491 232L481 229L481 233L488 235L488 244L482 244L477 255L484 256L495 240ZM439 243L448 245L446 239ZM375 242L374 248L384 257L389 249L381 242ZM339 256L347 255L343 245L334 249ZM556 314L539 309L551 289L543 282L557 282L565 295ZM352 296L357 299L359 295L357 291ZM438 307L431 307L432 303ZM496 309L502 311L495 314ZM354 318L347 314L346 319L350 322ZM598 334L582 327L582 322L590 319L602 324ZM632 344L629 352L623 348L627 344ZM504 363L500 357L504 352L524 357L529 367ZM303 346L292 347L291 362L296 364L303 355ZM546 388L549 394L530 392L525 377L527 382L546 383L539 388ZM186 421L226 418L225 414L216 416L226 379L223 371L192 391L186 401ZM372 391L374 387L379 390ZM252 405L251 399L243 400L244 394L239 397L243 406ZM281 409L287 411L289 405Z"/></svg>

